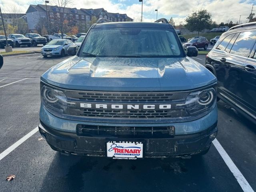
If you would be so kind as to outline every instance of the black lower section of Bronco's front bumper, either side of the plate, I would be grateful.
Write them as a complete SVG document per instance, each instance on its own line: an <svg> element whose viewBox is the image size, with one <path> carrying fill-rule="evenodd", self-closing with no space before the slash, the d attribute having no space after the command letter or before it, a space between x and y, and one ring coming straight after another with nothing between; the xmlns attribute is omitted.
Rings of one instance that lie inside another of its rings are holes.
<svg viewBox="0 0 256 192"><path fill-rule="evenodd" d="M78 136L74 133L58 132L42 122L39 125L39 131L54 150L66 154L106 156L105 144L108 137ZM182 157L198 154L210 147L216 133L217 123L196 134L174 136L173 138L143 139L146 150L145 157ZM128 138L125 140L130 141Z"/></svg>

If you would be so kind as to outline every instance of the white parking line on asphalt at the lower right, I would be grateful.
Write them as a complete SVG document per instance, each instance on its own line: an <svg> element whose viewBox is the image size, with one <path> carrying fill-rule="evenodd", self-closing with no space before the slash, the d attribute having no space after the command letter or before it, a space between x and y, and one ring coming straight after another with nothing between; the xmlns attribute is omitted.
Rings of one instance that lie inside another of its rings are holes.
<svg viewBox="0 0 256 192"><path fill-rule="evenodd" d="M220 156L222 157L222 159L224 160L224 162L226 163L226 165L228 166L228 168L230 169L230 171L236 178L236 180L239 183L239 185L241 186L242 190L244 192L254 192L254 190L252 189L250 184L244 178L244 176L242 175L240 170L238 170L238 168L236 167L236 165L234 164L234 162L232 161L230 156L228 156L228 154L226 153L224 148L221 146L221 144L218 142L218 140L215 139L212 141L212 143L214 144L214 146L218 150Z"/></svg>

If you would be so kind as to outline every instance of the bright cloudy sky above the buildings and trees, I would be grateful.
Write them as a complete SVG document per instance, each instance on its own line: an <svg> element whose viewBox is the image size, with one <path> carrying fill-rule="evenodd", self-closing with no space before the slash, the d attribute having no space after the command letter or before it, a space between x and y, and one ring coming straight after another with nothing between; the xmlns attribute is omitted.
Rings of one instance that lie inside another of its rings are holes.
<svg viewBox="0 0 256 192"><path fill-rule="evenodd" d="M49 0L54 5L56 0ZM26 12L29 4L42 4L44 0L0 0L0 6L5 12L10 12L10 7L18 7ZM241 22L246 22L246 17L251 12L256 13L255 0L144 0L143 21L151 22L156 19L155 9L158 9L158 18L174 18L174 22L184 23L186 16L192 11L207 9L216 22L236 22L241 15ZM141 17L141 3L139 0L72 0L69 7L76 8L104 8L108 12L126 13L135 21Z"/></svg>

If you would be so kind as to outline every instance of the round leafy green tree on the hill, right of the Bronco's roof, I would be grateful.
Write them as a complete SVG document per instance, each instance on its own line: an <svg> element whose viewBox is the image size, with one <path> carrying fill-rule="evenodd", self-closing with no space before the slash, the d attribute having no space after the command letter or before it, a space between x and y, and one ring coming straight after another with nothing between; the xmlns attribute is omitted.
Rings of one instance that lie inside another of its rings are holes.
<svg viewBox="0 0 256 192"><path fill-rule="evenodd" d="M199 35L200 31L204 29L209 29L211 27L211 17L212 15L208 13L206 9L195 11L191 15L188 15L186 17L185 26L190 31L197 31Z"/></svg>

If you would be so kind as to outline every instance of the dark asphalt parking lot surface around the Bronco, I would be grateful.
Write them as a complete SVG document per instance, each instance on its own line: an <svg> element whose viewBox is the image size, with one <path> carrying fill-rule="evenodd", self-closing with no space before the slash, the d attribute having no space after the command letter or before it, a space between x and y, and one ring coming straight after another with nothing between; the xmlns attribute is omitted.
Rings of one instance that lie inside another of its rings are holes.
<svg viewBox="0 0 256 192"><path fill-rule="evenodd" d="M40 75L64 59L40 54L4 58L0 70L0 159L7 148L38 126ZM204 64L205 56L194 60ZM217 139L243 177L235 178L234 167L227 166L214 145L202 157L128 161L62 156L44 139L38 141L40 137L36 132L0 160L1 192L256 190L255 125L222 101L218 102ZM7 182L10 174L16 177ZM242 188L241 178L251 188Z"/></svg>

